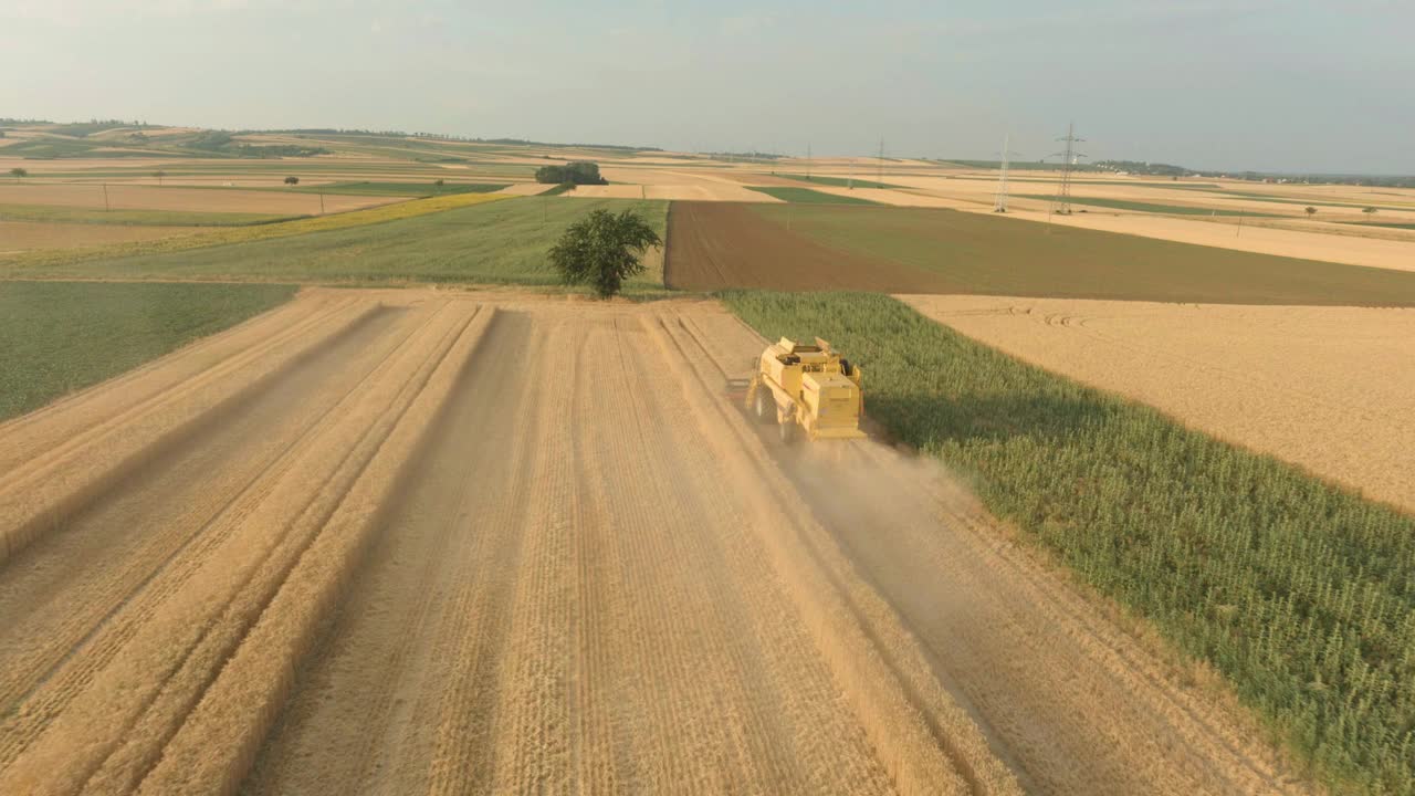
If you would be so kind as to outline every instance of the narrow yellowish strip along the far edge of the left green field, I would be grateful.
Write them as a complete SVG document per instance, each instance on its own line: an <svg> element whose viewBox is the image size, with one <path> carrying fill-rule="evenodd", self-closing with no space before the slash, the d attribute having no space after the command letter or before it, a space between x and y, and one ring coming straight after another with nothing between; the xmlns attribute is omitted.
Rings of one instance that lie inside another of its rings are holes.
<svg viewBox="0 0 1415 796"><path fill-rule="evenodd" d="M108 246L89 246L75 249L41 249L0 256L0 278L20 279L24 276L48 276L57 273L82 273L85 276L105 276L103 271L82 268L82 263L112 259L112 258L143 258L170 252L185 252L208 246L225 246L229 244L248 244L273 238L289 238L293 235L307 235L310 232L330 232L348 229L352 227L366 227L385 224L405 218L415 218L432 212L441 212L458 207L504 200L502 195L491 194L460 194L437 197L430 200L415 200L399 204L371 207L314 218L300 218L280 224L265 224L260 227L238 227L232 229L214 229L201 235L184 235L180 238L161 238L157 241L137 241L130 244L116 244ZM74 268L79 266L79 268Z"/></svg>

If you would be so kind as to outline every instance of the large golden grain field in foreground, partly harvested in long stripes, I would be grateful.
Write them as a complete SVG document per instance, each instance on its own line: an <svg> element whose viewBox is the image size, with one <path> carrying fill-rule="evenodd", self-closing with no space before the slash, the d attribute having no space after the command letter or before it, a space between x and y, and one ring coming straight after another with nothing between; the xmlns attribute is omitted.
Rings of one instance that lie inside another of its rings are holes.
<svg viewBox="0 0 1415 796"><path fill-rule="evenodd" d="M770 445L758 344L314 290L0 426L0 792L1286 789L931 466Z"/></svg>

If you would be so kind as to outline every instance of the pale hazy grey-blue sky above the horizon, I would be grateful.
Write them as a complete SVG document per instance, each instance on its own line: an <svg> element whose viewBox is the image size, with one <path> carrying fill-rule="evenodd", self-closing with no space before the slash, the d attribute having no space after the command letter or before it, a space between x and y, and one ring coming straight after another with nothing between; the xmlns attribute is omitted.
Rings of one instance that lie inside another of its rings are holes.
<svg viewBox="0 0 1415 796"><path fill-rule="evenodd" d="M1415 0L0 0L0 116L1415 173Z"/></svg>

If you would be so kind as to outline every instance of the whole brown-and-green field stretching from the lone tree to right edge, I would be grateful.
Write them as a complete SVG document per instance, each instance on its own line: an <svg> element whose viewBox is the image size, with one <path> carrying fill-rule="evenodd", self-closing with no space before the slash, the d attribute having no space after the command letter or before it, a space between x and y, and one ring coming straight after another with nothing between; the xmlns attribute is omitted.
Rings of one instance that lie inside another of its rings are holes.
<svg viewBox="0 0 1415 796"><path fill-rule="evenodd" d="M1415 273L924 208L675 203L666 283L1415 306Z"/></svg>

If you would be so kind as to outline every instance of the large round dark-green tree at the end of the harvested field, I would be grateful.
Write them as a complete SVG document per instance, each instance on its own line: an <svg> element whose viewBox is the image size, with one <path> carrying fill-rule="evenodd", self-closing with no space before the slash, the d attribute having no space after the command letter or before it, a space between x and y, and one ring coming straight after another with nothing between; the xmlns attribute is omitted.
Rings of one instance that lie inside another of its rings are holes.
<svg viewBox="0 0 1415 796"><path fill-rule="evenodd" d="M596 210L565 229L550 248L550 265L566 285L590 285L601 299L620 292L624 279L644 272L642 255L662 245L637 212Z"/></svg>

